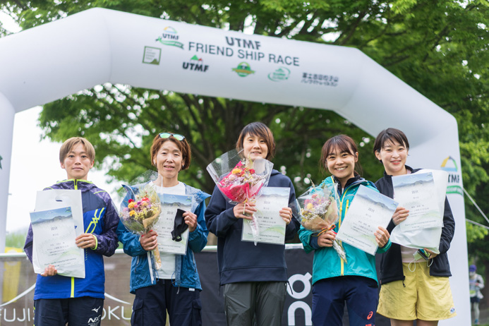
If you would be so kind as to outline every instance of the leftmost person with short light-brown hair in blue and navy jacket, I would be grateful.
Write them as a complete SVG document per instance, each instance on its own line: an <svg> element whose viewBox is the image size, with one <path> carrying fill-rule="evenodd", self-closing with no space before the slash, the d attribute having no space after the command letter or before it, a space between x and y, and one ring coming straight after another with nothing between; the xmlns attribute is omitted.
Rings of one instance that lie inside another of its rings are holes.
<svg viewBox="0 0 489 326"><path fill-rule="evenodd" d="M34 325L100 325L104 306L104 260L117 248L116 229L119 216L110 195L87 181L93 167L95 149L85 138L66 140L59 150L61 168L67 179L51 189L73 189L82 192L83 229L75 241L85 249L85 278L65 277L57 274L56 266L49 265L37 274L34 293ZM32 225L29 227L24 250L32 262Z"/></svg>

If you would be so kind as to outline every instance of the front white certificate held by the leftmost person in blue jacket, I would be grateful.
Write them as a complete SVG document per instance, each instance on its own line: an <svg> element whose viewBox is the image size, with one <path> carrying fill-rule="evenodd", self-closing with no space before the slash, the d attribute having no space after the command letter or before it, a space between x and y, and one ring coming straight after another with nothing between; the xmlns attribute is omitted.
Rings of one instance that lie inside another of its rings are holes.
<svg viewBox="0 0 489 326"><path fill-rule="evenodd" d="M83 249L75 243L71 207L31 212L30 221L37 241L34 272L41 274L48 265L54 265L60 275L85 277Z"/></svg>

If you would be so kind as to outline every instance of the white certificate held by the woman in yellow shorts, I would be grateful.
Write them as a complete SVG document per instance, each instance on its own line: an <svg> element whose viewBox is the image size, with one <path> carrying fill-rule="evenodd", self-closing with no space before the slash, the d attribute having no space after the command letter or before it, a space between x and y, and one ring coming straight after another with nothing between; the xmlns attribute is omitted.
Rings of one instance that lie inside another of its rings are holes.
<svg viewBox="0 0 489 326"><path fill-rule="evenodd" d="M442 227L433 173L403 174L392 177L394 198L409 210L409 216L399 224L400 231Z"/></svg>

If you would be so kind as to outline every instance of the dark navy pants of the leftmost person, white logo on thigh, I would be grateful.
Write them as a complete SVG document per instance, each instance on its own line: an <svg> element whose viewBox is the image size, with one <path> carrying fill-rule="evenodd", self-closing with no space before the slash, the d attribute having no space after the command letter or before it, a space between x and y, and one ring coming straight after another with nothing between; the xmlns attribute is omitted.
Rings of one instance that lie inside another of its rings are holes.
<svg viewBox="0 0 489 326"><path fill-rule="evenodd" d="M34 301L34 325L99 326L103 310L102 298L39 299Z"/></svg>

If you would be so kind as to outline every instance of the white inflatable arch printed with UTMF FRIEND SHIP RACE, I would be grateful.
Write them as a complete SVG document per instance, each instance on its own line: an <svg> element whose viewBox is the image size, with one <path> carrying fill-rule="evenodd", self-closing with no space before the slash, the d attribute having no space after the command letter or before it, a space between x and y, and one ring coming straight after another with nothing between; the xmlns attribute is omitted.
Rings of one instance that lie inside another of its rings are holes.
<svg viewBox="0 0 489 326"><path fill-rule="evenodd" d="M440 325L470 325L457 121L358 49L94 8L1 38L0 67L0 239L16 112L107 82L329 109L374 137L387 127L402 129L411 144L409 165L449 171L458 315Z"/></svg>

